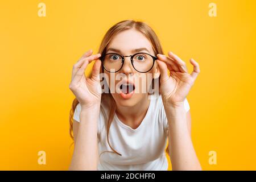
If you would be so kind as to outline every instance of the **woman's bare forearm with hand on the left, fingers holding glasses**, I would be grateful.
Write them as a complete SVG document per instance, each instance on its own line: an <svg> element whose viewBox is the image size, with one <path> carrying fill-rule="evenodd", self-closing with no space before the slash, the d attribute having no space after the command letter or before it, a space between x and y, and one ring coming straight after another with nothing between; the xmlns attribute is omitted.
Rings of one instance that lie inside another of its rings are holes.
<svg viewBox="0 0 256 182"><path fill-rule="evenodd" d="M92 55L90 49L86 52L72 70L72 80L69 89L75 94L81 105L80 123L74 123L75 148L69 170L96 170L98 164L97 123L100 113L101 84L100 53ZM86 78L84 72L89 63L96 60L92 76Z"/></svg>

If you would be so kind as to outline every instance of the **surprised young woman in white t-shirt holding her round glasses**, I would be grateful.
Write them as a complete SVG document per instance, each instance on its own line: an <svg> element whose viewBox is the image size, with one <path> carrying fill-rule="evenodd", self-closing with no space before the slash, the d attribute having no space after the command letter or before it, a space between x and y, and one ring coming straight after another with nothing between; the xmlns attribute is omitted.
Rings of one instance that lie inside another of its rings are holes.
<svg viewBox="0 0 256 182"><path fill-rule="evenodd" d="M151 27L134 20L111 27L98 52L92 55L89 50L73 65L69 89L76 99L69 119L75 148L69 169L167 170L168 139L173 170L201 170L186 99L199 64L191 59L189 74L177 55L163 54ZM86 78L85 68L93 60L92 73ZM101 73L108 92L99 92ZM119 75L122 80L117 79Z"/></svg>

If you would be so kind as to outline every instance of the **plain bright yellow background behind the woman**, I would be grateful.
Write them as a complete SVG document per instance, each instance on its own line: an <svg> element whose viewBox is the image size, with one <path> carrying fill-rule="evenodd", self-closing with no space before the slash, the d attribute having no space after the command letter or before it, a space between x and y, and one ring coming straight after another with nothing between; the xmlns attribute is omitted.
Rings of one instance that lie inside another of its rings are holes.
<svg viewBox="0 0 256 182"><path fill-rule="evenodd" d="M40 2L46 17L38 16ZM208 15L211 2L217 17ZM255 7L254 0L1 1L0 169L68 169L72 66L88 49L97 53L113 24L135 19L190 71L189 58L200 64L187 98L203 169L255 170ZM38 164L41 150L46 165Z"/></svg>

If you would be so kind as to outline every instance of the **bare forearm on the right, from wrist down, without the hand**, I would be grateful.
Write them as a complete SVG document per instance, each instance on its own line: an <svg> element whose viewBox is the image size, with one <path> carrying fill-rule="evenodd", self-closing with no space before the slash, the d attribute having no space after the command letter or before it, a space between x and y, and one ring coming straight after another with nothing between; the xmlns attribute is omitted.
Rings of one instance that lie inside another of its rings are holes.
<svg viewBox="0 0 256 182"><path fill-rule="evenodd" d="M168 120L169 151L173 170L201 170L191 140L191 117L184 107L164 106Z"/></svg>

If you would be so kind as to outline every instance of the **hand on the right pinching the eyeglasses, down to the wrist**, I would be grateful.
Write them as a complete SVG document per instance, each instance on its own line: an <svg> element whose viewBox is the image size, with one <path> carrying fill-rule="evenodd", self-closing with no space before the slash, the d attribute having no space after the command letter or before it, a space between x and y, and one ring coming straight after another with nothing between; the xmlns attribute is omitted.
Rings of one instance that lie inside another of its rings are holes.
<svg viewBox="0 0 256 182"><path fill-rule="evenodd" d="M183 60L172 52L168 52L168 56L157 55L158 60L156 61L161 75L160 92L163 104L180 107L183 106L189 90L200 73L199 64L195 60L190 59L190 63L193 65L193 72L189 75ZM167 70L170 71L170 76Z"/></svg>

